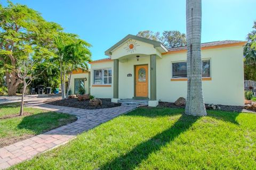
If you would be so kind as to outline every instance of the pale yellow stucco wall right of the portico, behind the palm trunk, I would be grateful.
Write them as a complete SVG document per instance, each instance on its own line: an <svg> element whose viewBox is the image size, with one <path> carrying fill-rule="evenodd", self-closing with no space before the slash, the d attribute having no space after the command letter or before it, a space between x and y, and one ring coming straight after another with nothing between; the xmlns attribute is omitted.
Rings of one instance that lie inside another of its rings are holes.
<svg viewBox="0 0 256 170"><path fill-rule="evenodd" d="M172 62L186 61L186 53L163 55L157 60L157 99L174 102L187 96L187 81L170 81ZM203 81L205 103L244 105L243 47L202 50L202 59L211 60L210 81Z"/></svg>

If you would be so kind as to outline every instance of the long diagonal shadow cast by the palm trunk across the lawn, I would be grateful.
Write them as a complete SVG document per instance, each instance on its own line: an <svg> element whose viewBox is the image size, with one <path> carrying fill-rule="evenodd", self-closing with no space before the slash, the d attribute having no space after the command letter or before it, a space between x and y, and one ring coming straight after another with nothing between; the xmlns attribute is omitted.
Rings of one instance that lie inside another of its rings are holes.
<svg viewBox="0 0 256 170"><path fill-rule="evenodd" d="M170 129L167 129L155 135L153 138L140 143L127 154L103 165L100 169L134 169L142 162L142 160L147 159L150 153L160 150L161 147L173 141L181 133L187 131L190 126L198 120L198 118L199 117L196 116L182 114L179 120L175 122Z"/></svg>

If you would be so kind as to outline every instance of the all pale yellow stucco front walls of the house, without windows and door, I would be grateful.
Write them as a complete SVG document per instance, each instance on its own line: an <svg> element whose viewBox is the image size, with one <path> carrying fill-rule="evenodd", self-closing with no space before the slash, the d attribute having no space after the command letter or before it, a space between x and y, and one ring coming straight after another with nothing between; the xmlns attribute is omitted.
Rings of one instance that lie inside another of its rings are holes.
<svg viewBox="0 0 256 170"><path fill-rule="evenodd" d="M146 48L146 47L145 47ZM153 47L149 47L150 49ZM149 49L149 50L150 50ZM125 53L118 52L118 55ZM137 53L137 52L136 52ZM139 52L138 52L139 53ZM113 53L114 54L114 53ZM118 56L116 55L116 56ZM136 55L136 54L134 54ZM134 58L134 57L133 57ZM179 97L187 96L187 81L171 81L172 62L186 61L187 54L177 53L157 57L157 100L174 102ZM244 105L244 76L243 76L243 47L225 47L202 50L202 59L211 60L210 81L203 81L203 95L205 103L222 105ZM148 94L150 98L150 60L141 57L139 61L120 60L119 62L119 98L134 97L134 65L148 64ZM91 94L100 98L113 98L113 86L92 87L93 70L111 68L113 73L113 61L91 64ZM127 77L131 73L132 77ZM114 75L114 73L113 73ZM113 81L113 79L112 79ZM113 82L112 82L113 84Z"/></svg>

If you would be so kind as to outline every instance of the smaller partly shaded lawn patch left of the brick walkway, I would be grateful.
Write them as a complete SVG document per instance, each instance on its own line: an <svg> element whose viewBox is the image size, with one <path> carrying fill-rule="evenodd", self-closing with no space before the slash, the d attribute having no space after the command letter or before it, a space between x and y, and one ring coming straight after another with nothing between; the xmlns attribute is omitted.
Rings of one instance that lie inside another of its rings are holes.
<svg viewBox="0 0 256 170"><path fill-rule="evenodd" d="M73 115L28 107L24 108L24 112L30 115L4 118L18 114L19 109L17 103L0 105L0 148L76 121Z"/></svg>

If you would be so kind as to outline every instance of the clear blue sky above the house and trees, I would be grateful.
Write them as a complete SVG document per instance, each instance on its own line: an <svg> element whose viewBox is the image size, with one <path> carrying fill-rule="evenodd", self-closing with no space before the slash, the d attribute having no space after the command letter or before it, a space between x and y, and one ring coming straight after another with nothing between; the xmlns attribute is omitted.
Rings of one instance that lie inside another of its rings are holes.
<svg viewBox="0 0 256 170"><path fill-rule="evenodd" d="M5 0L0 0L6 5ZM92 59L128 34L141 30L186 33L186 0L15 0L92 44ZM256 21L255 0L202 0L202 43L245 40Z"/></svg>

